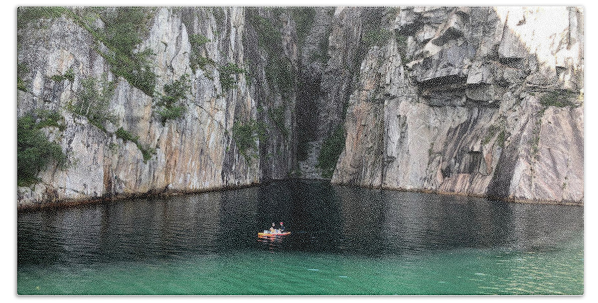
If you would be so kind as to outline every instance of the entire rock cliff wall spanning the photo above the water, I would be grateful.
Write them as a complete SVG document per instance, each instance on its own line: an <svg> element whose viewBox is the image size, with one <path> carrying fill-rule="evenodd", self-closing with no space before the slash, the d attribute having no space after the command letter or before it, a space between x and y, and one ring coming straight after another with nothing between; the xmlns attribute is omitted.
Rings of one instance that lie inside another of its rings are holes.
<svg viewBox="0 0 598 303"><path fill-rule="evenodd" d="M66 160L19 207L287 177L582 203L583 28L565 7L20 8L17 115Z"/></svg>

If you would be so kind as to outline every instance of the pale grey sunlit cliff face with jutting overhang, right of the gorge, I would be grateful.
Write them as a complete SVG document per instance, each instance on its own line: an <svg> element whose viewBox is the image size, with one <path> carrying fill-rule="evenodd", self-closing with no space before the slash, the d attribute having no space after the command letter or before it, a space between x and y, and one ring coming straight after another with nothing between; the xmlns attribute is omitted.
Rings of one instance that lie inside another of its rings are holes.
<svg viewBox="0 0 598 303"><path fill-rule="evenodd" d="M582 18L390 11L395 39L362 63L332 182L582 203Z"/></svg>

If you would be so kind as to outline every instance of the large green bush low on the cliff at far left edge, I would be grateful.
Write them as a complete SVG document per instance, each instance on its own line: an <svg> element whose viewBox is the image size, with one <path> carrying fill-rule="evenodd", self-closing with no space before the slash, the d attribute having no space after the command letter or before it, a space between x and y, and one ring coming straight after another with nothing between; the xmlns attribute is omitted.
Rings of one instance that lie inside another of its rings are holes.
<svg viewBox="0 0 598 303"><path fill-rule="evenodd" d="M59 167L66 163L66 155L60 145L50 142L40 130L44 126L57 124L56 115L51 114L51 119L53 121L47 122L42 119L40 123L36 123L36 117L28 114L17 120L17 185L19 186L37 183L39 172L52 162Z"/></svg>

